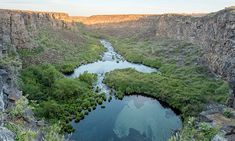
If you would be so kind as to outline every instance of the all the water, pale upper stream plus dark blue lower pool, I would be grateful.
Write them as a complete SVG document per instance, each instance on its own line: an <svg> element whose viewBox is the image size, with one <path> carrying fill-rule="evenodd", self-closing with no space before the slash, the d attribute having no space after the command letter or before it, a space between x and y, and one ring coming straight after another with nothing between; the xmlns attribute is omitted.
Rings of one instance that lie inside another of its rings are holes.
<svg viewBox="0 0 235 141"><path fill-rule="evenodd" d="M95 73L98 81L94 88L109 95L109 88L103 83L105 73L115 69L133 68L143 73L157 73L158 70L126 61L116 53L112 45L101 40L107 49L101 61L82 65L71 77L84 72ZM172 133L181 128L181 119L171 109L163 107L157 100L144 96L128 96L123 100L113 97L105 102L105 109L96 110L79 123L72 122L76 129L71 135L75 141L166 141Z"/></svg>

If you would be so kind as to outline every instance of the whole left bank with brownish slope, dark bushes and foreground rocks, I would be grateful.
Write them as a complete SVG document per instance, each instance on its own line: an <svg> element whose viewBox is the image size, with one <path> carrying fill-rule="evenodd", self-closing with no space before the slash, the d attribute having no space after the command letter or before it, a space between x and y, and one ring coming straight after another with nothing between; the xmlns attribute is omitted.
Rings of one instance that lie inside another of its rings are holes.
<svg viewBox="0 0 235 141"><path fill-rule="evenodd" d="M61 72L71 73L76 66L99 59L104 48L99 39L90 35L81 25L69 29L41 26L27 32L31 35L27 38L28 46L13 50L9 45L0 60L0 67L6 69L9 76L4 82L9 85L9 88L4 89L4 128L10 129L12 138L17 141L42 138L61 141L64 140L64 132L73 131L69 121L83 119L87 111L95 109L94 105L102 104L105 99L104 95L94 95L91 84L95 81L93 75L70 81ZM1 74L1 77L5 79L4 75ZM0 88L3 89L2 86ZM57 96L47 94L59 93L60 90L72 91L71 95L88 92L89 98L78 98L84 100L78 101L79 105L74 104L77 103L76 98L59 105L58 102L63 100L58 101ZM71 107L79 108L78 112L69 112ZM56 115L58 109L60 112Z"/></svg>

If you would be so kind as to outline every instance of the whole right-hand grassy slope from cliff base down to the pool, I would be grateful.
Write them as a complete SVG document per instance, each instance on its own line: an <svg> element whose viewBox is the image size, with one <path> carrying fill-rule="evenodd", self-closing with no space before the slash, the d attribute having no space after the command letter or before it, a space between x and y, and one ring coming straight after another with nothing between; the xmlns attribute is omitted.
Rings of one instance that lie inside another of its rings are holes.
<svg viewBox="0 0 235 141"><path fill-rule="evenodd" d="M179 109L184 117L197 115L204 104L225 102L227 83L214 78L199 65L199 46L171 39L111 38L114 48L127 60L159 68L161 74L143 74L134 70L116 70L105 82L117 95L145 93Z"/></svg>

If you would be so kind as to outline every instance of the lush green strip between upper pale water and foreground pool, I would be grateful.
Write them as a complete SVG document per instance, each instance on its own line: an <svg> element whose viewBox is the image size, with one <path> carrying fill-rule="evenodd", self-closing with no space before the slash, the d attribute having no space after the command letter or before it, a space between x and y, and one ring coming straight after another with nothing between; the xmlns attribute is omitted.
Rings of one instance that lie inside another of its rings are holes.
<svg viewBox="0 0 235 141"><path fill-rule="evenodd" d="M227 89L223 81L205 77L193 78L193 80L189 82L164 74L146 74L125 69L108 73L105 83L116 90L115 95L119 99L122 99L125 94L144 94L167 102L170 106L179 109L184 117L197 115L208 101L225 100Z"/></svg>

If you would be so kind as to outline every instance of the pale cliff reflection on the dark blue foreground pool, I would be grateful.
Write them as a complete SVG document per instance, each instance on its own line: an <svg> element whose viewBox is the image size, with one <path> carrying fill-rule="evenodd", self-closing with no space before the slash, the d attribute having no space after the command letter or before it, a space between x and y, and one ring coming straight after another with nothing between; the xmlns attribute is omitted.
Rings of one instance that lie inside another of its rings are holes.
<svg viewBox="0 0 235 141"><path fill-rule="evenodd" d="M134 97L118 114L113 131L120 139L131 136L134 129L150 141L164 141L171 136L169 131L178 128L179 122L174 112L163 108L158 101Z"/></svg>

